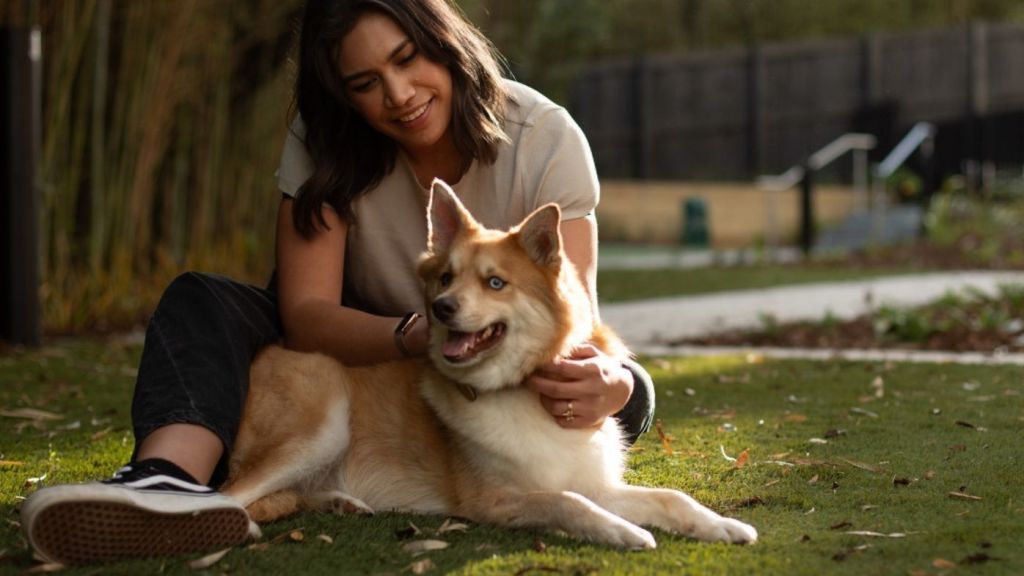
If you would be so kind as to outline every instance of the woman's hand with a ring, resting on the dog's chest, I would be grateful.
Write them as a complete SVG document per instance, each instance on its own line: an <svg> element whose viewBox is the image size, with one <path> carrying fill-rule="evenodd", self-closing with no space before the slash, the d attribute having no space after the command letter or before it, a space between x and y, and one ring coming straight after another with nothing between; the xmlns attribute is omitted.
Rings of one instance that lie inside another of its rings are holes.
<svg viewBox="0 0 1024 576"><path fill-rule="evenodd" d="M633 374L592 344L572 348L568 358L541 366L526 378L541 404L564 428L600 426L626 406Z"/></svg>

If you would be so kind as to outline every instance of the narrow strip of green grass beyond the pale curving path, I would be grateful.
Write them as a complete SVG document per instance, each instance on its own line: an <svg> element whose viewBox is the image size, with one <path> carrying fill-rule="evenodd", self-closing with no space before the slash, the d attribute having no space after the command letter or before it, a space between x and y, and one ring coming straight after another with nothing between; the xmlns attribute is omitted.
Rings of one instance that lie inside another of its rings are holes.
<svg viewBox="0 0 1024 576"><path fill-rule="evenodd" d="M602 302L614 302L815 282L864 280L910 272L921 271L911 271L909 268L858 270L825 265L601 270L597 275L597 293Z"/></svg>

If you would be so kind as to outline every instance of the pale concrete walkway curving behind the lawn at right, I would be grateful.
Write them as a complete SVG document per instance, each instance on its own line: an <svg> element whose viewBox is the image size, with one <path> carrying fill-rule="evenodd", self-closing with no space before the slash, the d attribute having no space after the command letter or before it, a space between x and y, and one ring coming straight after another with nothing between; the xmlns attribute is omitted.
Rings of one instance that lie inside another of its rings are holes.
<svg viewBox="0 0 1024 576"><path fill-rule="evenodd" d="M840 320L866 314L883 304L915 306L932 302L949 292L967 289L995 293L1004 284L1024 284L1024 273L956 272L876 278L859 282L804 284L776 288L724 292L697 296L657 298L601 304L601 316L634 352L648 355L692 355L740 352L737 348L668 346L667 342L723 330L763 326L765 317L779 323L821 320L830 314ZM835 351L759 351L769 356L828 357ZM868 354L870 352L870 354ZM851 353L846 353L848 356ZM934 353L882 353L860 351L863 359L891 358L911 361L954 362L962 355ZM872 356L873 355L873 356ZM1021 363L1024 355L974 355L974 361ZM1017 357L1021 357L1018 359ZM929 360L931 359L931 360ZM972 361L964 356L965 362Z"/></svg>

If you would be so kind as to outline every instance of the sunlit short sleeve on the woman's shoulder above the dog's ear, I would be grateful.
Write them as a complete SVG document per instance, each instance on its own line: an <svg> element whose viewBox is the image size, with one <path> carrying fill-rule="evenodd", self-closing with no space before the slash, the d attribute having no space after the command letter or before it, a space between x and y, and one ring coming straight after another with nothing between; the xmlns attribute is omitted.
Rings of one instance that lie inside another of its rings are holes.
<svg viewBox="0 0 1024 576"><path fill-rule="evenodd" d="M592 214L600 200L597 168L587 136L568 112L546 110L523 136L521 150L530 158L524 181L537 194L535 208L554 202L566 220Z"/></svg>

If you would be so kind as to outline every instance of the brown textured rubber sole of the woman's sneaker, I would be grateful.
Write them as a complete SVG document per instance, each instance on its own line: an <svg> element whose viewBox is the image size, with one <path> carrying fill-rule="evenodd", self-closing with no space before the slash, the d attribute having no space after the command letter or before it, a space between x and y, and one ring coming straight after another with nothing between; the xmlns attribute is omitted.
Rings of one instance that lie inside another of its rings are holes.
<svg viewBox="0 0 1024 576"><path fill-rule="evenodd" d="M31 540L44 558L91 564L222 549L249 537L242 508L162 513L129 503L66 501L39 511Z"/></svg>

